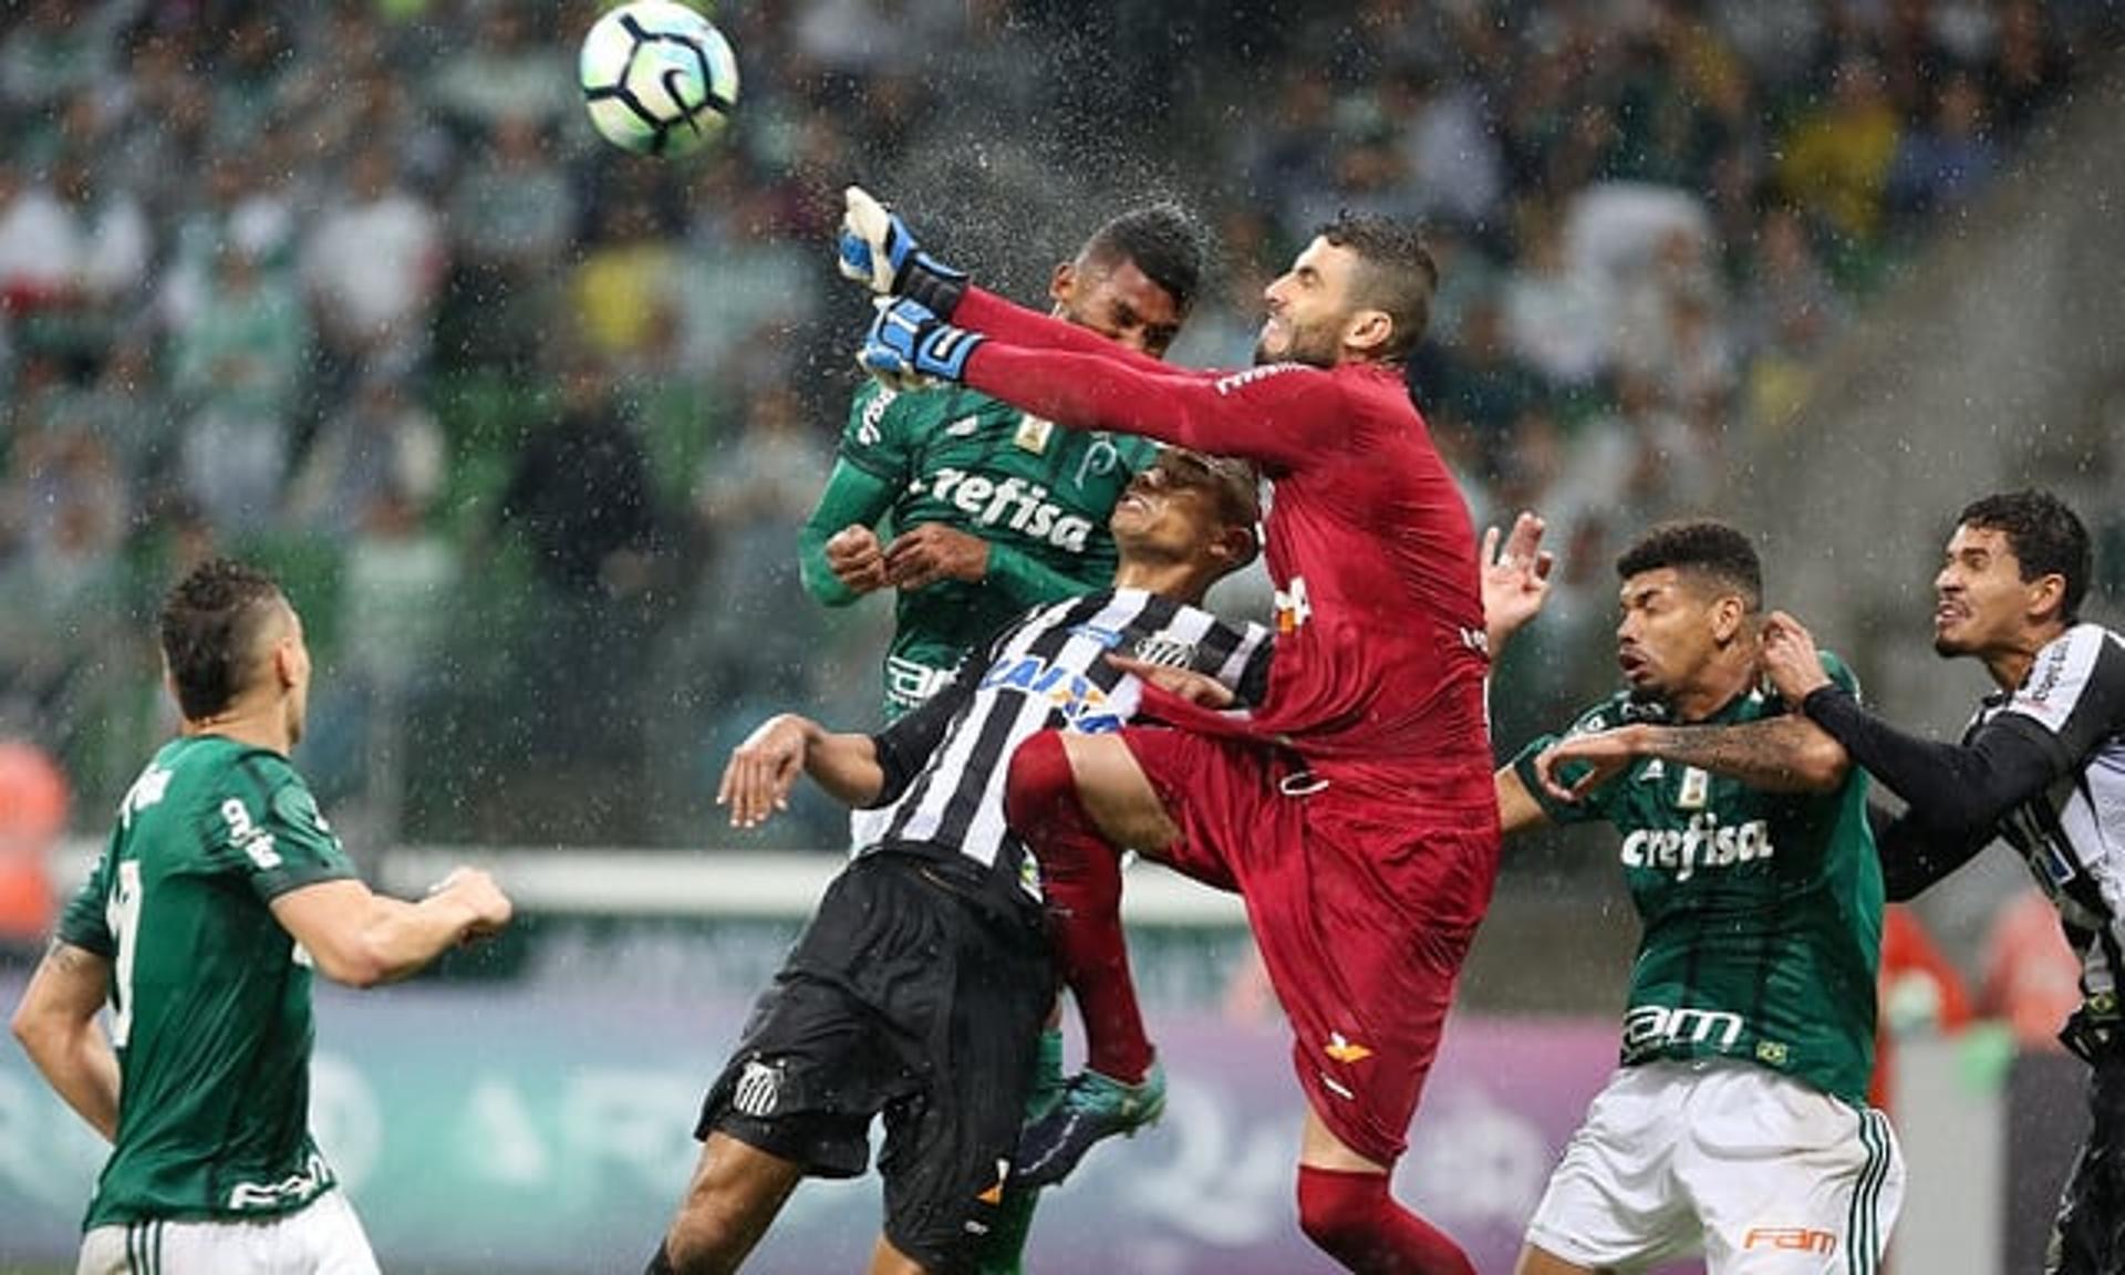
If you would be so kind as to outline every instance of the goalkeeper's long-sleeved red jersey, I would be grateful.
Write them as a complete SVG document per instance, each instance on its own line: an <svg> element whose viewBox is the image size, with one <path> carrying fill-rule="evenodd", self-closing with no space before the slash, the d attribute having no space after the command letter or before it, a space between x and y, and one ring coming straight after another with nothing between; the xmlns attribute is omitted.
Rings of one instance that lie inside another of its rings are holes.
<svg viewBox="0 0 2125 1275"><path fill-rule="evenodd" d="M1245 457L1271 480L1269 693L1247 718L1171 697L1160 716L1288 742L1358 793L1496 805L1475 527L1398 368L1169 368L980 289L952 319L990 338L967 385L1056 425Z"/></svg>

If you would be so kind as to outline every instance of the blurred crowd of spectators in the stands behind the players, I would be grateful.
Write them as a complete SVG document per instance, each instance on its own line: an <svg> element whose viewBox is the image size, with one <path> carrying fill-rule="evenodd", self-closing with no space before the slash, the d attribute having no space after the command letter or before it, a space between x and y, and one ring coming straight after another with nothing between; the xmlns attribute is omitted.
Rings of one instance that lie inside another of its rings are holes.
<svg viewBox="0 0 2125 1275"><path fill-rule="evenodd" d="M712 844L763 712L867 722L886 608L795 565L848 181L1022 298L1179 196L1211 366L1318 221L1426 217L1413 391L1479 525L1538 508L1562 557L1500 682L1526 737L1609 676L1621 542L1713 499L2116 36L2093 0L725 0L737 121L646 162L582 117L595 11L6 8L0 735L83 818L170 727L149 618L212 550L304 610L304 765L374 837Z"/></svg>

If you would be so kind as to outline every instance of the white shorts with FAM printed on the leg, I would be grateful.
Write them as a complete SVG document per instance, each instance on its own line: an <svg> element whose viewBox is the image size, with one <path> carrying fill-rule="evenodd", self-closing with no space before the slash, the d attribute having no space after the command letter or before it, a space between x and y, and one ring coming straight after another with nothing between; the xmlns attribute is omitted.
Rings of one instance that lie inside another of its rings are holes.
<svg viewBox="0 0 2125 1275"><path fill-rule="evenodd" d="M1889 1118L1751 1062L1624 1067L1528 1222L1590 1269L1704 1254L1708 1275L1870 1275L1904 1203Z"/></svg>

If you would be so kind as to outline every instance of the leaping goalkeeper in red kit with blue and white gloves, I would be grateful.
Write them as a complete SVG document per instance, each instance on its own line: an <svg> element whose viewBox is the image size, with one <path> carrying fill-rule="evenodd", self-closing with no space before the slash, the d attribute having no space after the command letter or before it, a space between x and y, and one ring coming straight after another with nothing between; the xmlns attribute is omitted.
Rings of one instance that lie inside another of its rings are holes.
<svg viewBox="0 0 2125 1275"><path fill-rule="evenodd" d="M1148 697L1171 727L1043 733L1009 767L1090 1054L1014 1173L1060 1179L1164 1105L1122 941L1116 846L1130 846L1245 897L1307 1094L1307 1237L1352 1271L1473 1271L1388 1192L1498 869L1475 531L1402 378L1436 287L1422 238L1371 217L1322 227L1264 293L1256 366L1224 374L969 287L861 189L842 266L886 293L869 370L1245 457L1269 480L1277 642L1260 706Z"/></svg>

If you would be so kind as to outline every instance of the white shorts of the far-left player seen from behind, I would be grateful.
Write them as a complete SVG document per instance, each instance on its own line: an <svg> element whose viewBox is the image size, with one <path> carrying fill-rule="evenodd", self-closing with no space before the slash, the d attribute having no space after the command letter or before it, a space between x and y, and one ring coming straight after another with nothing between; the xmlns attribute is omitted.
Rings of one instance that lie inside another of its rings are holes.
<svg viewBox="0 0 2125 1275"><path fill-rule="evenodd" d="M242 1222L132 1222L81 1237L74 1275L378 1275L353 1205L327 1190Z"/></svg>

